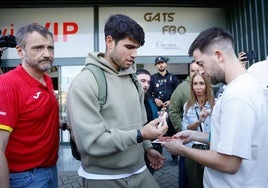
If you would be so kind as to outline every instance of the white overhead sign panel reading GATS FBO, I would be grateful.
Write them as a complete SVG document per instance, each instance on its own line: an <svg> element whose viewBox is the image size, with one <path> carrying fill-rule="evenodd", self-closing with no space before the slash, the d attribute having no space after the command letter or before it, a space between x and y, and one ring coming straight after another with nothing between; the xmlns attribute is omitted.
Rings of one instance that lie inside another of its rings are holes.
<svg viewBox="0 0 268 188"><path fill-rule="evenodd" d="M220 8L181 7L101 7L99 31L111 14L126 14L136 20L145 31L145 44L138 56L188 56L195 37L212 26L225 27L224 10ZM100 33L100 50L104 51L104 34Z"/></svg>

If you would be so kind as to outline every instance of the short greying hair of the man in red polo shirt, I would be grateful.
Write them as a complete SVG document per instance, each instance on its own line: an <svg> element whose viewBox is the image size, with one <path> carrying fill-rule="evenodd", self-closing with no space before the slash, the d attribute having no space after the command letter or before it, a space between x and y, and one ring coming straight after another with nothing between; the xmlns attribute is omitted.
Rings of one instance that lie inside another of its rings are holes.
<svg viewBox="0 0 268 188"><path fill-rule="evenodd" d="M31 23L19 28L19 30L16 32L15 38L17 45L24 48L26 45L27 34L32 33L34 31L40 33L44 37L50 36L53 39L53 34L47 28L37 23Z"/></svg>

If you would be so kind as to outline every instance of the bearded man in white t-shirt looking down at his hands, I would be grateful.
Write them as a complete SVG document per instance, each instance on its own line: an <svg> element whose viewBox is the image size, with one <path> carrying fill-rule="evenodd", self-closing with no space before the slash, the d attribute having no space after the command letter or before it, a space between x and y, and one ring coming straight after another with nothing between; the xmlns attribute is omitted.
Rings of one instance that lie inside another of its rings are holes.
<svg viewBox="0 0 268 188"><path fill-rule="evenodd" d="M238 61L232 35L218 27L204 30L189 55L213 84L226 88L212 112L211 134L186 130L163 146L203 164L204 187L268 187L268 105L263 88ZM183 145L192 140L210 142L210 150Z"/></svg>

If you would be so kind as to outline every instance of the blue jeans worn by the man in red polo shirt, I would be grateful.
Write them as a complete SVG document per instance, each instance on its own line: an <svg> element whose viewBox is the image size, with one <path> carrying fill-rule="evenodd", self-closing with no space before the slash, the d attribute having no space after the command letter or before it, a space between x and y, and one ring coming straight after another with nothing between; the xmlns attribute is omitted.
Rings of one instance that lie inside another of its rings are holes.
<svg viewBox="0 0 268 188"><path fill-rule="evenodd" d="M10 188L58 188L56 165L49 168L34 168L25 172L10 173Z"/></svg>

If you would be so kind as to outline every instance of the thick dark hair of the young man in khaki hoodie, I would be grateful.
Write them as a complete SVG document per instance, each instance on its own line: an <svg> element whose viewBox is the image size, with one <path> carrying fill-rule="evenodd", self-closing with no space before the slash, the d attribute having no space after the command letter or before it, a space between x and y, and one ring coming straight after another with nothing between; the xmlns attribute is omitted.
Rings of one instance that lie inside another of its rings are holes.
<svg viewBox="0 0 268 188"><path fill-rule="evenodd" d="M111 15L105 23L105 38L111 35L115 42L129 38L143 46L145 34L143 28L130 17L123 14Z"/></svg>

